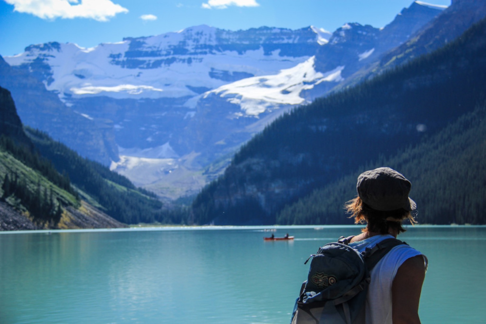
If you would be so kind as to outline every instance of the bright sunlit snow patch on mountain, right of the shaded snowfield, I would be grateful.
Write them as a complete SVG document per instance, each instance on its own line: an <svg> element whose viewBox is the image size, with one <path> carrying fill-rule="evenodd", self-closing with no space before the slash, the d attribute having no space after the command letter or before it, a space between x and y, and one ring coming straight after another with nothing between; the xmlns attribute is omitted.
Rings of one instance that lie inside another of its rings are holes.
<svg viewBox="0 0 486 324"><path fill-rule="evenodd" d="M278 74L246 78L223 85L205 94L214 93L241 106L247 116L258 116L268 109L280 105L296 105L305 102L300 97L302 90L312 89L321 82L339 82L343 78L339 66L329 72L317 72L314 68L315 56L293 68L282 69Z"/></svg>

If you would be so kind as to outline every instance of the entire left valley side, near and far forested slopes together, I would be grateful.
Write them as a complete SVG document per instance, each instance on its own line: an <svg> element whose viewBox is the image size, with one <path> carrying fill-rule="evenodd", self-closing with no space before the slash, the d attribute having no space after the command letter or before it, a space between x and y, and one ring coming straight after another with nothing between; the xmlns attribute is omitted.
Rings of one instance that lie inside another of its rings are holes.
<svg viewBox="0 0 486 324"><path fill-rule="evenodd" d="M182 222L180 215L163 211L153 193L45 133L26 132L10 92L0 87L1 229Z"/></svg>

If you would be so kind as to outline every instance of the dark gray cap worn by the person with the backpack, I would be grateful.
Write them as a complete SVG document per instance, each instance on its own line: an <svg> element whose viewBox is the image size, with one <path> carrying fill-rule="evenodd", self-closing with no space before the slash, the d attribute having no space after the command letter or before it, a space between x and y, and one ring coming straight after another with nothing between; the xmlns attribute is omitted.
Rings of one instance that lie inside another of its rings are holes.
<svg viewBox="0 0 486 324"><path fill-rule="evenodd" d="M365 171L360 174L356 184L361 200L371 208L380 211L399 208L415 210L417 204L408 198L411 187L410 181L390 168Z"/></svg>

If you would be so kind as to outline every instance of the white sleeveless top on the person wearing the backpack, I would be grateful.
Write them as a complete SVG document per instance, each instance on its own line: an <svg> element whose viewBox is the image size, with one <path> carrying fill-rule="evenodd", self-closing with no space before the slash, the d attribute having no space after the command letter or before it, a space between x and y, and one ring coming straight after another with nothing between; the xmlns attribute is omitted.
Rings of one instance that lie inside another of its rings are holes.
<svg viewBox="0 0 486 324"><path fill-rule="evenodd" d="M363 252L391 235L376 235L368 239L349 243L349 246ZM392 283L398 268L405 260L422 255L416 249L402 244L390 250L371 271L371 283L366 296L366 324L392 324ZM424 256L425 266L427 258ZM372 302L370 302L372 301Z"/></svg>

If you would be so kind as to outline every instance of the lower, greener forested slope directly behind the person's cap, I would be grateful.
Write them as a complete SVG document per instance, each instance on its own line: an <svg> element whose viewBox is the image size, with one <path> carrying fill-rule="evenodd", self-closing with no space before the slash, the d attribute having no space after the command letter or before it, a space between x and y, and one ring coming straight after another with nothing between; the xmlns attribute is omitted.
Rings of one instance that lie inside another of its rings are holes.
<svg viewBox="0 0 486 324"><path fill-rule="evenodd" d="M417 221L434 224L485 224L486 102L435 136L391 158L379 158L279 212L278 224L343 224L344 203L356 196L362 171L382 166L412 182Z"/></svg>

